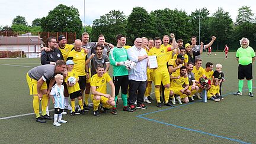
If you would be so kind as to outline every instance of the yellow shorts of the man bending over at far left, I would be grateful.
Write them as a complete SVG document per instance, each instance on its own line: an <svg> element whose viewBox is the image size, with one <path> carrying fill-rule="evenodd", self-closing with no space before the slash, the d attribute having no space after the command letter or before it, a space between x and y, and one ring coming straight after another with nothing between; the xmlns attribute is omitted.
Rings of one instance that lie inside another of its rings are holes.
<svg viewBox="0 0 256 144"><path fill-rule="evenodd" d="M34 80L33 78L30 78L27 73L27 83L28 87L30 89L30 95L36 95L37 93L37 80ZM41 90L47 90L47 84L46 81L43 82L41 86Z"/></svg>

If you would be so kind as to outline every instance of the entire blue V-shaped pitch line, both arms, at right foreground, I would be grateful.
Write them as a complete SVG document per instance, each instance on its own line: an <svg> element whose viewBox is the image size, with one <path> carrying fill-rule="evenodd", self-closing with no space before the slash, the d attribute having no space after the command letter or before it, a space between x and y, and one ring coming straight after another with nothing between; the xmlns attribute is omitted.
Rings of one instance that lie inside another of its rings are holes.
<svg viewBox="0 0 256 144"><path fill-rule="evenodd" d="M252 89L255 89L255 88L256 87L252 87ZM245 89L245 90L248 90L248 89ZM245 90L242 90L242 91L245 91ZM225 96L228 96L229 94L233 94L233 93L235 93L235 92L223 94L222 96L225 97ZM193 103L195 103L195 102L193 102ZM165 110L174 109L174 108L181 107L181 106L187 106L188 104L193 104L193 103L186 103L186 104L183 104L183 105L180 105L180 106L169 107L168 109L156 110L154 112L149 112L149 113L144 113L144 114L137 115L136 117L139 117L139 118L145 119L145 120L149 120L149 121L152 121L152 122L161 123L161 124L168 125L168 126L178 127L180 129L185 129L185 130L190 130L190 131L193 131L193 132L203 133L205 135L215 136L217 138L228 139L228 140L232 140L232 141L239 142L239 143L248 143L248 142L244 142L244 141L238 140L238 139L232 139L232 138L228 138L228 137L225 137L225 136L214 135L212 133L202 132L200 130L190 129L190 128L187 128L187 127L177 126L177 125L173 125L171 123L165 123L165 122L161 122L161 121L158 121L158 120L154 120L154 119L149 119L147 117L143 117L143 116L148 115L148 114L164 112Z"/></svg>

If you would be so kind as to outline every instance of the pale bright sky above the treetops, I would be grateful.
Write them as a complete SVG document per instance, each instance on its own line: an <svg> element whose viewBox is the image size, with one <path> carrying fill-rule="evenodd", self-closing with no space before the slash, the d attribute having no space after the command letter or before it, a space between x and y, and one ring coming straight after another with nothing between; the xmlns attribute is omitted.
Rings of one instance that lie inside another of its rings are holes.
<svg viewBox="0 0 256 144"><path fill-rule="evenodd" d="M255 1L238 1L238 0L214 0L214 1L199 1L199 0L1 0L0 5L0 25L11 25L12 19L17 15L25 17L28 25L35 18L46 17L48 12L54 9L59 4L64 4L67 6L74 6L78 9L80 18L84 24L84 1L85 1L85 20L87 25L92 25L94 19L100 18L101 15L107 14L111 10L123 11L125 15L129 15L132 12L133 7L141 6L146 9L146 11L151 12L156 9L182 9L187 14L196 11L196 9L201 9L206 7L210 11L210 15L217 11L218 7L223 8L224 11L229 12L233 21L235 21L238 15L238 9L244 5L251 6L252 12L256 13L256 2ZM56 19L57 20L57 19Z"/></svg>

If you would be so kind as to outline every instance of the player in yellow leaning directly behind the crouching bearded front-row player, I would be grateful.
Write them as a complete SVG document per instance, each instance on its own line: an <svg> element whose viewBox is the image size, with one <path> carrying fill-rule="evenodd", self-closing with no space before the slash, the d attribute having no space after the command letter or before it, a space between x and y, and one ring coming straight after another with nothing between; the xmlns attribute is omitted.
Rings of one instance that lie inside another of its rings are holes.
<svg viewBox="0 0 256 144"><path fill-rule="evenodd" d="M168 61L168 70L169 74L180 73L180 68L184 66L185 57L181 54L178 54L177 58L171 59Z"/></svg>

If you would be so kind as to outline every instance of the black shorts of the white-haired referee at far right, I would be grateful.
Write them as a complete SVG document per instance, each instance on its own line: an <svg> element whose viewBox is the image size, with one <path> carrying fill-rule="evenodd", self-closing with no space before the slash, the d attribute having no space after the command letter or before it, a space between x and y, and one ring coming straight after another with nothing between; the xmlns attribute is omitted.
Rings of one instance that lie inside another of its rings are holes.
<svg viewBox="0 0 256 144"><path fill-rule="evenodd" d="M248 64L247 66L242 66L239 64L238 66L238 79L242 80L244 77L247 80L252 79L252 64Z"/></svg>

